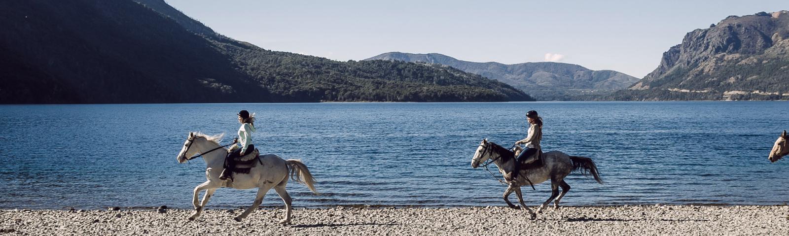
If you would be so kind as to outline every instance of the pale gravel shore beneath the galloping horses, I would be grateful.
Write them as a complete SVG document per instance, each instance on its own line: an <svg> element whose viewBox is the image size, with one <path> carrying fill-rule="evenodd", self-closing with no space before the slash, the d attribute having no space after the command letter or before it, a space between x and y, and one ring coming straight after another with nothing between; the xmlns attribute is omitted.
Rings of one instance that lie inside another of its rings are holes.
<svg viewBox="0 0 789 236"><path fill-rule="evenodd" d="M164 213L160 213L164 212ZM211 210L195 221L183 209L0 211L0 235L789 235L789 206L635 205L547 208Z"/></svg>

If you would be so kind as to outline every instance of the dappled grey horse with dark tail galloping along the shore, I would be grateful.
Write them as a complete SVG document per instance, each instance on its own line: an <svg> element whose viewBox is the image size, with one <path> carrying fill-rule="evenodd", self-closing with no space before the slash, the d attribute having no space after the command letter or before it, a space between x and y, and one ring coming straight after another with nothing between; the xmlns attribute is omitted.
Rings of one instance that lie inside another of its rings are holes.
<svg viewBox="0 0 789 236"><path fill-rule="evenodd" d="M529 209L523 202L523 195L521 193L522 185L536 185L548 179L551 180L551 189L553 192L551 193L551 197L548 197L548 200L545 200L545 202L540 205L540 208L537 209L537 213L540 213L552 200L554 207L559 208L559 200L562 200L562 197L570 191L570 185L564 182L564 178L574 170L581 170L581 173L585 175L592 174L597 182L600 184L603 183L603 180L600 179L600 175L597 174L597 167L592 159L567 155L559 151L545 152L541 158L543 162L541 166L533 167L533 165L527 164L525 167L522 167L521 171L518 173L518 178L514 179L512 182L507 181L509 187L504 191L504 201L507 202L507 205L510 206L510 208L518 209L517 206L510 203L509 199L510 193L514 191L515 194L518 195L518 203L520 203L526 211L529 211L529 215L531 215L532 219L536 218L537 214L532 212L532 209ZM490 159L490 162L485 163L488 159ZM482 140L480 146L477 148L477 152L474 153L474 157L471 159L471 167L476 169L480 167L480 164L486 167L491 163L499 167L499 173L507 173L515 168L515 155L507 148L503 148L493 142L488 142L488 140ZM561 194L559 194L559 187L562 187Z"/></svg>

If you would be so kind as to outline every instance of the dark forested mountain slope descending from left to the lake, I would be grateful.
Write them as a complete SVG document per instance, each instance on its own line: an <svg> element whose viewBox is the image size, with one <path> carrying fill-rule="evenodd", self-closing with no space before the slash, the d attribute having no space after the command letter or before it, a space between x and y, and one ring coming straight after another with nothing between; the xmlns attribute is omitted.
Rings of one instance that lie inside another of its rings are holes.
<svg viewBox="0 0 789 236"><path fill-rule="evenodd" d="M268 51L163 0L2 1L0 28L0 103L533 100L448 66Z"/></svg>

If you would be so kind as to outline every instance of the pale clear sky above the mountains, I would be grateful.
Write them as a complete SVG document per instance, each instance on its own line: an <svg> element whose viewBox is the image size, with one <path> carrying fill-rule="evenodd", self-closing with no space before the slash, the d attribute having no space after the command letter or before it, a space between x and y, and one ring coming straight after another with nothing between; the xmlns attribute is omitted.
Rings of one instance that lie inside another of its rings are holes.
<svg viewBox="0 0 789 236"><path fill-rule="evenodd" d="M687 32L789 1L166 0L230 38L338 61L390 51L470 62L565 62L634 77Z"/></svg>

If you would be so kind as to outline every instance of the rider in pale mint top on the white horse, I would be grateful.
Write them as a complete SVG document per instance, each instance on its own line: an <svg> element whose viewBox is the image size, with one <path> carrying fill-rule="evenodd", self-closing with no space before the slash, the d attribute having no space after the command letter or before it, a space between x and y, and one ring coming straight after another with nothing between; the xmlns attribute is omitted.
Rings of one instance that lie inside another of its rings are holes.
<svg viewBox="0 0 789 236"><path fill-rule="evenodd" d="M247 155L252 153L255 150L255 145L252 144L252 133L256 132L255 129L255 114L250 115L249 111L241 110L238 112L238 122L241 123L241 128L238 128L238 138L237 140L241 141L241 148L233 149L229 148L228 150L234 150L233 152L228 152L227 156L225 157L225 170L222 170L222 174L219 175L219 179L227 180L230 178L230 181L233 181L233 167L235 165L234 159L240 157L242 155Z"/></svg>

